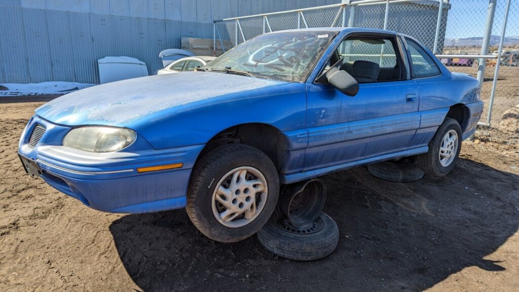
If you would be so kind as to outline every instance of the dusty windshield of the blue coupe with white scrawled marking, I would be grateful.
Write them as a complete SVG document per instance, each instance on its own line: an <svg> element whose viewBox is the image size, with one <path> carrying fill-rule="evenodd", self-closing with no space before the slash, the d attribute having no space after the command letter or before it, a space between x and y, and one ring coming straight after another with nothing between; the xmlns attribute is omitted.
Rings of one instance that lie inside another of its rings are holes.
<svg viewBox="0 0 519 292"><path fill-rule="evenodd" d="M230 69L254 77L305 82L335 35L336 32L327 31L263 34L225 52L203 68Z"/></svg>

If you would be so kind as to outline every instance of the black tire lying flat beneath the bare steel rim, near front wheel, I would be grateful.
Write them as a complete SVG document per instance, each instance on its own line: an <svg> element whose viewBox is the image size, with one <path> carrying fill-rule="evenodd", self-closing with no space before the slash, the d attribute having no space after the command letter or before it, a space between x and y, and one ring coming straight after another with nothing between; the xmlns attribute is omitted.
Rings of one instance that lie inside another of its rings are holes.
<svg viewBox="0 0 519 292"><path fill-rule="evenodd" d="M285 221L283 221L283 224L276 224L277 220ZM315 223L322 225L322 229L310 231L313 232L310 234L294 233L290 231L294 227L286 224L286 219L274 215L258 231L258 240L272 254L283 258L305 261L321 259L329 256L337 247L339 229L337 223L322 212L314 221ZM310 226L319 228L319 226L315 227L312 224ZM305 232L308 230L311 230L311 227L308 227Z"/></svg>

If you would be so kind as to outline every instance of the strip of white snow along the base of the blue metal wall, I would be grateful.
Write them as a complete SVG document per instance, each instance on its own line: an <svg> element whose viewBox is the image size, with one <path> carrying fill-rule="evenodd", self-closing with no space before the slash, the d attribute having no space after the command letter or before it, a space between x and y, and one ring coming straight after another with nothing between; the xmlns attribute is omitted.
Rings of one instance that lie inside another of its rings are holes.
<svg viewBox="0 0 519 292"><path fill-rule="evenodd" d="M7 88L7 90L0 90L0 97L2 97L22 95L67 94L69 92L87 88L97 84L51 81L28 84L3 83L0 85Z"/></svg>

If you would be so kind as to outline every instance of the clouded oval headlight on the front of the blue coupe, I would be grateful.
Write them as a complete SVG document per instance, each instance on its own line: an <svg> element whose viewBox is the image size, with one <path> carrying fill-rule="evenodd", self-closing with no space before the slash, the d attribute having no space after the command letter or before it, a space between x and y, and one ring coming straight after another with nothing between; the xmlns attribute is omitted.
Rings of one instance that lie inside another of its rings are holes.
<svg viewBox="0 0 519 292"><path fill-rule="evenodd" d="M89 152L112 152L128 147L135 138L135 132L130 129L81 127L65 136L63 146Z"/></svg>

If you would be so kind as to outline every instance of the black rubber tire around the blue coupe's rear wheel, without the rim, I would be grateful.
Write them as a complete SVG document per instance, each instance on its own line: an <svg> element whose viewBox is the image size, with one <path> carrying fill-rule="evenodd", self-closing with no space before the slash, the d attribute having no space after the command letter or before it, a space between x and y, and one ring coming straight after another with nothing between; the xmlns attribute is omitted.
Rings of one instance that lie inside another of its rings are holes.
<svg viewBox="0 0 519 292"><path fill-rule="evenodd" d="M443 166L440 163L439 152L440 147L442 145L442 140L445 134L450 131L455 130L457 133L457 148L455 152L455 157L449 165ZM453 170L454 165L458 161L459 152L461 150L461 127L458 122L454 120L454 118L446 117L445 121L438 127L436 133L432 137L429 142L429 151L424 154L417 155L418 166L424 170L424 172L432 177L443 177L447 175L451 170Z"/></svg>

